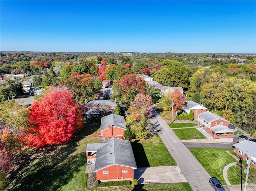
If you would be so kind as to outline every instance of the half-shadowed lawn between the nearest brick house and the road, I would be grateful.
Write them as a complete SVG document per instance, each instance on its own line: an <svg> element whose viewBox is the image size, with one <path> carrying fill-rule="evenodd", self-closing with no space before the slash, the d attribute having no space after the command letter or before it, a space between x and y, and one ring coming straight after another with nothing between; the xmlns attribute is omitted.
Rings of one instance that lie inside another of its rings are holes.
<svg viewBox="0 0 256 191"><path fill-rule="evenodd" d="M176 162L158 135L132 140L137 167L173 166Z"/></svg>

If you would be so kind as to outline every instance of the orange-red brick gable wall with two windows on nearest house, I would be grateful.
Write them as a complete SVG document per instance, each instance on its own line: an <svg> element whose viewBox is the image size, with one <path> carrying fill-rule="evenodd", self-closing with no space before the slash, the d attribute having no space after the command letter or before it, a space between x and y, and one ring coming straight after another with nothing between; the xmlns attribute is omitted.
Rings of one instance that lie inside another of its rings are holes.
<svg viewBox="0 0 256 191"><path fill-rule="evenodd" d="M127 173L122 173L122 170L127 170ZM103 174L103 171L108 171L108 174ZM104 169L98 170L96 172L97 180L112 180L112 179L122 180L121 178L133 179L134 178L133 169L131 167L125 167L121 165L112 165Z"/></svg>

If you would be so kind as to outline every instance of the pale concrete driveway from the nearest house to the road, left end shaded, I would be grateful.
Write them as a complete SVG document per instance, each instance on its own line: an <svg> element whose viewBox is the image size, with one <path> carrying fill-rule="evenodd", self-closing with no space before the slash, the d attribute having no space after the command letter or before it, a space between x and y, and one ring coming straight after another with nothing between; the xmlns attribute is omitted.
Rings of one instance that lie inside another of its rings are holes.
<svg viewBox="0 0 256 191"><path fill-rule="evenodd" d="M144 167L134 169L139 184L187 182L178 166Z"/></svg>

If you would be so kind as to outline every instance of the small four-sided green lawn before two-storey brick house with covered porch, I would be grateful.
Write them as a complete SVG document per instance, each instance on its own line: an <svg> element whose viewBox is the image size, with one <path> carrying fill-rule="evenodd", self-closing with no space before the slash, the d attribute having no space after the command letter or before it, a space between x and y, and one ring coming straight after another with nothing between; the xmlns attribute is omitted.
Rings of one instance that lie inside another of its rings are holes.
<svg viewBox="0 0 256 191"><path fill-rule="evenodd" d="M205 139L206 137L196 128L173 129L180 140Z"/></svg>

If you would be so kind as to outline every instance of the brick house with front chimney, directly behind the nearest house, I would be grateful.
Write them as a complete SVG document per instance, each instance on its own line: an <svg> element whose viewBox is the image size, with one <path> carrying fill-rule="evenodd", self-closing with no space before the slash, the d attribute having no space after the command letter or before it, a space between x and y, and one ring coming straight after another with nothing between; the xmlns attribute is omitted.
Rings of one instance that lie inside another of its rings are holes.
<svg viewBox="0 0 256 191"><path fill-rule="evenodd" d="M121 115L110 114L102 117L100 124L102 137L124 139L124 130L126 130L126 124L124 122L124 116Z"/></svg>

